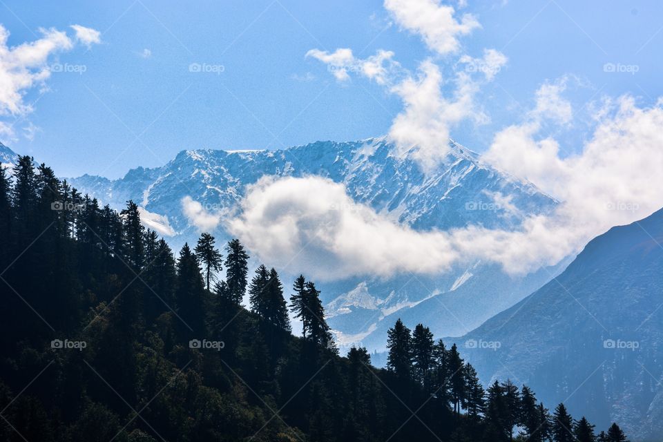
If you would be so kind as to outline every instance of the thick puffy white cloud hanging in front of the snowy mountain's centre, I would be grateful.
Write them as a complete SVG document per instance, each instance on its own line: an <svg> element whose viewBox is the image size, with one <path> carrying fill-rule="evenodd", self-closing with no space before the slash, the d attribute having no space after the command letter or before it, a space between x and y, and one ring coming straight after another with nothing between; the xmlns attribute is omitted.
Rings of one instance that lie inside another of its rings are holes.
<svg viewBox="0 0 663 442"><path fill-rule="evenodd" d="M434 272L456 259L445 234L394 224L323 177L263 177L228 229L261 260L322 280Z"/></svg>

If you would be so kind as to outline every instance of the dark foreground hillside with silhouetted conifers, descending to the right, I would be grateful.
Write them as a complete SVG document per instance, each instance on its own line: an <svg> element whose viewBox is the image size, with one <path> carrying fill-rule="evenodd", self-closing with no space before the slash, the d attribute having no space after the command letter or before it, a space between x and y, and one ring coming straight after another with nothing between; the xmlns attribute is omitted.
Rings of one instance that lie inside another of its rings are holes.
<svg viewBox="0 0 663 442"><path fill-rule="evenodd" d="M176 257L135 203L99 206L30 157L0 170L0 440L626 440L526 386L484 390L423 325L390 329L386 370L340 357L315 283L248 262L209 233Z"/></svg>

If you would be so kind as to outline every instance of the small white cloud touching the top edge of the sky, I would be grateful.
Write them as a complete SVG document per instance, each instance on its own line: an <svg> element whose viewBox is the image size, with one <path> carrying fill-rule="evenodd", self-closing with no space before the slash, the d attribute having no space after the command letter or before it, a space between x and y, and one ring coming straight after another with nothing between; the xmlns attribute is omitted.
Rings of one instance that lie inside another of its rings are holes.
<svg viewBox="0 0 663 442"><path fill-rule="evenodd" d="M441 55L457 52L458 37L481 28L473 15L463 14L459 20L453 6L437 0L385 0L384 6L401 27L421 35L426 46Z"/></svg>

